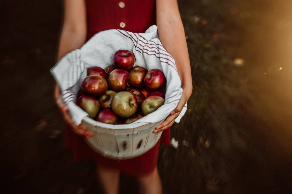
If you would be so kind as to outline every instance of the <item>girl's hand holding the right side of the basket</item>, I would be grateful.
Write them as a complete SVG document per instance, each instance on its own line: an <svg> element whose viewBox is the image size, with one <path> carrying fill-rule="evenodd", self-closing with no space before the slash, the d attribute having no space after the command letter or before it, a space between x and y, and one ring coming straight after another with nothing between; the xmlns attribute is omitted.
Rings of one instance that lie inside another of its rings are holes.
<svg viewBox="0 0 292 194"><path fill-rule="evenodd" d="M192 94L192 88L190 90L183 90L182 97L180 98L180 101L178 102L178 106L171 111L170 115L162 122L160 125L158 125L153 133L159 133L160 131L163 131L165 129L168 129L171 127L174 123L174 120L178 117L180 112L183 110L183 107L185 106L185 103L187 103L187 100L190 98Z"/></svg>

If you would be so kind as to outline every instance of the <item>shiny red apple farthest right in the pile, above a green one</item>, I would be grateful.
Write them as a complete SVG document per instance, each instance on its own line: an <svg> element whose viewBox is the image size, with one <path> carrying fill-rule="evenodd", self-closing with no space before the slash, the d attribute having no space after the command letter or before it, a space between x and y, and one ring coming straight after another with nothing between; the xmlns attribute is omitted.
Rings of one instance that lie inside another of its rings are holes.
<svg viewBox="0 0 292 194"><path fill-rule="evenodd" d="M144 84L149 90L157 90L166 83L163 72L159 69L149 70L144 78Z"/></svg>

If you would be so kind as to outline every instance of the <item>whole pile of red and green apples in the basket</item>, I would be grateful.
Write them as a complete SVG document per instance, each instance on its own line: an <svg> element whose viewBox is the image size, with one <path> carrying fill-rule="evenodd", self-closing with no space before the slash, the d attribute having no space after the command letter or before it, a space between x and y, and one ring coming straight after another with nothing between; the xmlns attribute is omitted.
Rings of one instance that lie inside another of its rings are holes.
<svg viewBox="0 0 292 194"><path fill-rule="evenodd" d="M133 67L131 51L119 50L114 64L91 67L77 94L76 104L90 118L108 124L129 124L164 104L166 78L159 69ZM109 90L108 90L109 89Z"/></svg>

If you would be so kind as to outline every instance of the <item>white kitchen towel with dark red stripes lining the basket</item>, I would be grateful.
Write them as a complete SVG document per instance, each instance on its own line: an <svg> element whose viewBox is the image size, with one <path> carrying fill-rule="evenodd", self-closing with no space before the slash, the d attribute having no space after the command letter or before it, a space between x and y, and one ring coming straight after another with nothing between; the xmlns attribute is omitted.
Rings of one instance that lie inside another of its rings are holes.
<svg viewBox="0 0 292 194"><path fill-rule="evenodd" d="M124 30L106 30L95 34L80 49L76 49L51 69L51 73L62 90L62 100L67 104L69 113L76 124L88 116L76 104L76 95L87 76L87 68L99 66L105 68L113 64L114 53L120 49L133 51L135 65L147 70L159 69L166 76L165 102L157 111L137 120L137 122L158 122L165 119L177 106L183 89L174 59L162 46L157 26L153 25L145 33L132 33ZM185 114L185 104L175 122Z"/></svg>

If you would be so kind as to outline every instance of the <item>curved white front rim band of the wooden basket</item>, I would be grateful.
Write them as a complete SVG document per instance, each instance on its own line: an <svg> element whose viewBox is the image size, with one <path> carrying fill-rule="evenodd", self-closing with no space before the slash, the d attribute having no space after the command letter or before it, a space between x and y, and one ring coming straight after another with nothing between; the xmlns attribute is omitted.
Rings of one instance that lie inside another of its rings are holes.
<svg viewBox="0 0 292 194"><path fill-rule="evenodd" d="M107 124L107 123L102 123L95 121L88 116L85 116L82 121L92 125L93 127L102 127L105 129L111 129L111 130L119 130L119 129L132 129L136 127L141 127L146 124L150 124L151 122L138 122L138 123L130 123L130 124Z"/></svg>

